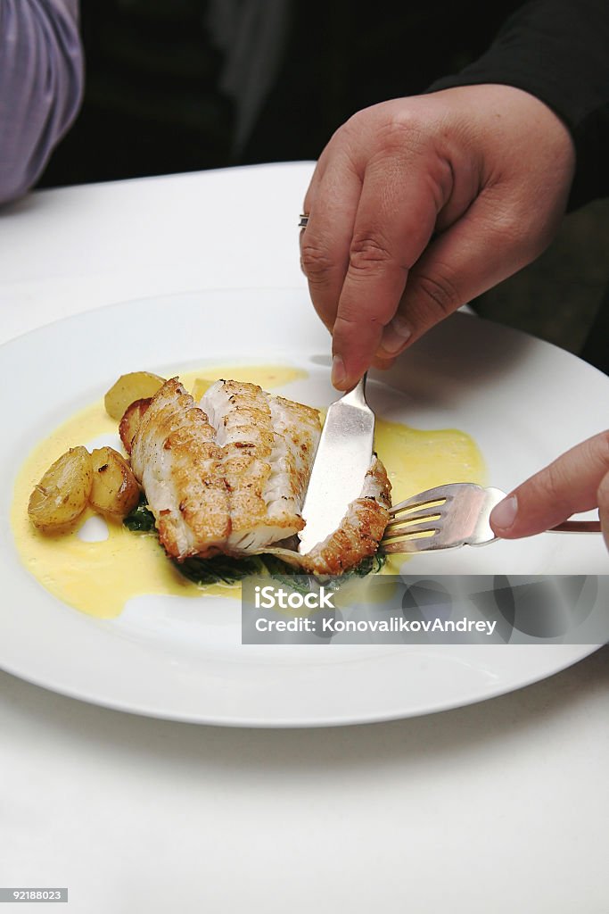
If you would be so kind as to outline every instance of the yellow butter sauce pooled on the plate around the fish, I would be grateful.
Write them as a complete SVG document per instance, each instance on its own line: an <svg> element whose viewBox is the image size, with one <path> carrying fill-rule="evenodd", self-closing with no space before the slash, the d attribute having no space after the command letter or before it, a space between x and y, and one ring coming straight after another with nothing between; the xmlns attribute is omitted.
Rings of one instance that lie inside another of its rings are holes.
<svg viewBox="0 0 609 914"><path fill-rule="evenodd" d="M184 386L189 390L196 387L197 396L205 390L202 376L210 383L217 377L230 377L269 389L281 388L306 373L282 366L223 366L181 374ZM108 520L107 539L84 541L79 528L92 512L86 511L71 532L56 536L42 534L30 523L29 495L50 464L70 447L116 433L117 424L100 400L64 422L27 457L16 480L11 510L17 551L26 569L59 600L106 619L120 615L128 600L143 594L238 597L238 583L199 588L185 579L165 558L153 535L137 535ZM478 447L463 431L415 430L378 418L375 447L389 473L394 503L432 485L486 481ZM386 573L395 573L403 558L388 561Z"/></svg>

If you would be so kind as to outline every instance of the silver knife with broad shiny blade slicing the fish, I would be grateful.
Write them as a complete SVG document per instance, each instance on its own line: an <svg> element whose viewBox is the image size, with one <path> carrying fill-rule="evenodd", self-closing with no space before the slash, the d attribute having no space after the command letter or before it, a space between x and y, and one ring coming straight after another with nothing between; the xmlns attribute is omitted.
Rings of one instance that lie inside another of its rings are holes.
<svg viewBox="0 0 609 914"><path fill-rule="evenodd" d="M366 376L328 409L302 505L306 526L299 533L304 555L340 525L347 507L362 493L373 458L374 413L366 402Z"/></svg>

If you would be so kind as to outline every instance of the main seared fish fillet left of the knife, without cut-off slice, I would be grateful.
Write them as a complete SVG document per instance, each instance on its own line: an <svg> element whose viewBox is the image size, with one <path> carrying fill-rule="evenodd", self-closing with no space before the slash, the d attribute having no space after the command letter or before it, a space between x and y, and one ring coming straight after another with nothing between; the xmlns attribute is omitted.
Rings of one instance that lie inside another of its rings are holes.
<svg viewBox="0 0 609 914"><path fill-rule="evenodd" d="M167 381L131 445L167 553L239 556L298 533L317 410L236 381L217 381L201 406Z"/></svg>

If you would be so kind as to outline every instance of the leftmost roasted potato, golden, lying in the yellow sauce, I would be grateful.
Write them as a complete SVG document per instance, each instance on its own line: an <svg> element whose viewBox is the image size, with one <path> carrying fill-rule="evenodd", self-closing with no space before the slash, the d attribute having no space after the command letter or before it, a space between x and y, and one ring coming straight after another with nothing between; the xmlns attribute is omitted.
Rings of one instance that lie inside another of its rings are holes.
<svg viewBox="0 0 609 914"><path fill-rule="evenodd" d="M44 474L30 495L27 514L47 533L75 521L87 507L93 484L93 464L86 448L70 448Z"/></svg>

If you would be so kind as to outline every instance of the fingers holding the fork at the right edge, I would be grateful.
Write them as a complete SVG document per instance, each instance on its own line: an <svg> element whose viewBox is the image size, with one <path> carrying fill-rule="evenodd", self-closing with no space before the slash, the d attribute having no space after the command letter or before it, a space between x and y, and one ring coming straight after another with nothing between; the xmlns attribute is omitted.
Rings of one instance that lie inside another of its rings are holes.
<svg viewBox="0 0 609 914"><path fill-rule="evenodd" d="M514 489L490 514L498 537L530 537L598 506L609 549L609 430L578 444Z"/></svg>

